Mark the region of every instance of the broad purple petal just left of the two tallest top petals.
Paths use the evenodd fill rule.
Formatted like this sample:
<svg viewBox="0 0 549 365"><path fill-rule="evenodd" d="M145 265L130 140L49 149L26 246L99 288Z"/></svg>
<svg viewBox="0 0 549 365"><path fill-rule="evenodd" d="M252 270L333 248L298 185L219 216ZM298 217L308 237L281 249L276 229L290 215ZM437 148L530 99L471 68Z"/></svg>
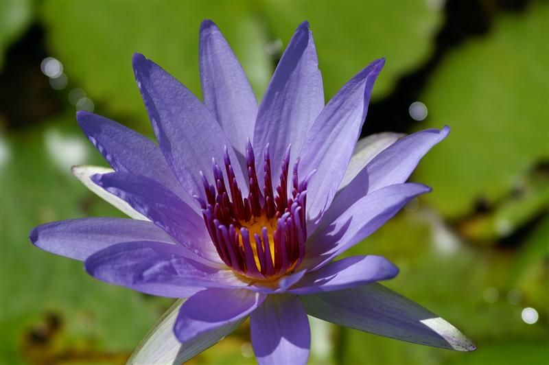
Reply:
<svg viewBox="0 0 549 365"><path fill-rule="evenodd" d="M231 142L204 104L158 64L135 54L133 67L167 163L189 195L203 196L200 171L213 181L211 158L223 161L225 145L232 163L238 165ZM242 195L246 196L248 185L242 169L234 170Z"/></svg>

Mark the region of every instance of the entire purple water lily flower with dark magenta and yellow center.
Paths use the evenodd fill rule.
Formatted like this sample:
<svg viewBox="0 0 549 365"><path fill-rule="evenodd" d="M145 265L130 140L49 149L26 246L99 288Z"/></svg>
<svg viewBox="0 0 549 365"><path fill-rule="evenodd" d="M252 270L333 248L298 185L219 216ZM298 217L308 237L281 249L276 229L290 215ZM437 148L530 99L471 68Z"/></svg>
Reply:
<svg viewBox="0 0 549 365"><path fill-rule="evenodd" d="M187 298L174 305L130 362L185 361L250 318L260 364L303 364L307 314L389 338L474 350L455 327L377 283L398 269L348 257L412 198L406 183L449 128L377 134L355 148L375 60L327 104L307 22L292 36L257 104L218 27L200 27L204 101L141 54L139 91L158 145L121 124L78 112L112 169L77 178L131 219L86 218L34 228L32 243L84 261L97 279Z"/></svg>

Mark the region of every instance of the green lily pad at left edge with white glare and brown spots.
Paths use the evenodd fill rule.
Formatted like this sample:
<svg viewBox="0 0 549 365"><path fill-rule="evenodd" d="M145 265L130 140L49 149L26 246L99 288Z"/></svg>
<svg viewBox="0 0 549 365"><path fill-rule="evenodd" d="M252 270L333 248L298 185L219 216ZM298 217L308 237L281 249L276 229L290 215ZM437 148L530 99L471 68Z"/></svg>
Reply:
<svg viewBox="0 0 549 365"><path fill-rule="evenodd" d="M82 263L30 243L28 233L38 224L120 215L66 168L102 163L73 119L59 117L47 128L2 136L2 364L124 363L166 304L96 281Z"/></svg>

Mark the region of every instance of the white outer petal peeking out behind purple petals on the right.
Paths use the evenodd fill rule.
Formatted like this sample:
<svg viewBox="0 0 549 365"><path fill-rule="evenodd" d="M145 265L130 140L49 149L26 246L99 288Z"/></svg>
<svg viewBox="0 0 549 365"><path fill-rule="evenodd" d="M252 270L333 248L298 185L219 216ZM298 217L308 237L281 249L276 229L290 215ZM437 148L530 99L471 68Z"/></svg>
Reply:
<svg viewBox="0 0 549 365"><path fill-rule="evenodd" d="M357 176L360 170L368 165L379 152L382 152L405 135L403 133L383 132L371 134L366 138L360 139L356 143L353 156L351 157L351 161L349 161L347 170L345 170L339 189L341 190L351 183L351 180Z"/></svg>

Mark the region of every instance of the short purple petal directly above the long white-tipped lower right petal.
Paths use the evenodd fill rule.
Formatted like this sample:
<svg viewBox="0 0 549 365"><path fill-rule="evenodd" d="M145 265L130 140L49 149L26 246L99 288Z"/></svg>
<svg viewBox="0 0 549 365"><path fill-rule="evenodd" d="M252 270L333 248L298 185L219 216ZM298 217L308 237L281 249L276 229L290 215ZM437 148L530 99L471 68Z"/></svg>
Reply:
<svg viewBox="0 0 549 365"><path fill-rule="evenodd" d="M314 272L309 272L289 292L312 294L342 290L347 287L393 279L399 269L381 256L354 256L329 263Z"/></svg>

